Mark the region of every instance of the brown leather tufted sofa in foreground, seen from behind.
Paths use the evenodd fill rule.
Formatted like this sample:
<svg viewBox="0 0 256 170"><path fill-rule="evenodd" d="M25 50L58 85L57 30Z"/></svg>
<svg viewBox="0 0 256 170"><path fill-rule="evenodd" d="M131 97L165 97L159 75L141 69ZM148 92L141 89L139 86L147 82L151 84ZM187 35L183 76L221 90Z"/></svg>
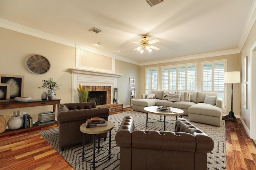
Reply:
<svg viewBox="0 0 256 170"><path fill-rule="evenodd" d="M135 130L124 117L117 133L120 170L206 170L214 148L208 135L186 119L177 119L174 132Z"/></svg>

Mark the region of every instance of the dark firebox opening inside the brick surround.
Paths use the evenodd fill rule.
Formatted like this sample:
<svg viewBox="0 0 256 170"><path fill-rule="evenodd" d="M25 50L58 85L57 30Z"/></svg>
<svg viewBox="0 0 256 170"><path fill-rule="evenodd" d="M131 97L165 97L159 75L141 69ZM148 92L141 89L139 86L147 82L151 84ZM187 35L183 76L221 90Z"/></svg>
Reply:
<svg viewBox="0 0 256 170"><path fill-rule="evenodd" d="M106 104L107 91L90 91L88 102L96 102L96 105Z"/></svg>

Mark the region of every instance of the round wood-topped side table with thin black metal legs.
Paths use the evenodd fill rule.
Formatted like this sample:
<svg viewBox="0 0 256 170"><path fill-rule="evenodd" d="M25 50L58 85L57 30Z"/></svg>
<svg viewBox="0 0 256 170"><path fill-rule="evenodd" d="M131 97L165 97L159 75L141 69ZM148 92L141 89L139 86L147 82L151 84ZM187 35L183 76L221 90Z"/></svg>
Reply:
<svg viewBox="0 0 256 170"><path fill-rule="evenodd" d="M96 135L99 135L98 138L98 153L100 152L100 134L109 132L109 148L108 148L108 159L110 160L110 149L111 149L111 130L114 128L114 123L110 121L106 121L107 126L102 127L86 127L86 123L83 123L80 125L80 131L83 133L83 152L82 152L82 160L84 161L84 134L92 134L93 135L93 162L92 162L92 168L95 170L95 141L96 141ZM100 161L99 161L100 162Z"/></svg>

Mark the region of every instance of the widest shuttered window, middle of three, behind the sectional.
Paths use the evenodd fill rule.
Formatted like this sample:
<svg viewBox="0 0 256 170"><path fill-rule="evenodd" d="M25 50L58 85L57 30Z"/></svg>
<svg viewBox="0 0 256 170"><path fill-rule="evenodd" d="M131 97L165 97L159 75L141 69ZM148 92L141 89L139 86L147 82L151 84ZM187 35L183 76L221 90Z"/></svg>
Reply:
<svg viewBox="0 0 256 170"><path fill-rule="evenodd" d="M196 91L196 64L161 67L162 90Z"/></svg>

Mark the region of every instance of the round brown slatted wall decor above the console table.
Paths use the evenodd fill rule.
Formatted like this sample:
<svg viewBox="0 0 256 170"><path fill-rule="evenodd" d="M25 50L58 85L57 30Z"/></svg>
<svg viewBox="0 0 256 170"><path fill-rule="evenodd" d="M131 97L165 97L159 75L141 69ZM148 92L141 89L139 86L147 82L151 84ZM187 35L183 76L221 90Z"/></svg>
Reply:
<svg viewBox="0 0 256 170"><path fill-rule="evenodd" d="M26 67L35 74L44 74L49 71L51 64L42 55L32 55L26 59Z"/></svg>

